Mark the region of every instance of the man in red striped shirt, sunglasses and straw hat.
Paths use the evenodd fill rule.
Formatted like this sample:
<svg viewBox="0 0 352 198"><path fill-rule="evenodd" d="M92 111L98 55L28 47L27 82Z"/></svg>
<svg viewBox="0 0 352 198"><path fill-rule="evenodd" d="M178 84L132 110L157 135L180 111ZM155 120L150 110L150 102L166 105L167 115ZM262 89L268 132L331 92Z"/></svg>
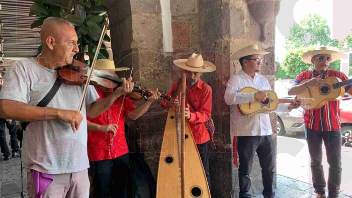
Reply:
<svg viewBox="0 0 352 198"><path fill-rule="evenodd" d="M297 76L293 86L289 89L289 95L297 95L307 87L320 86L324 78L335 76L342 81L348 80L347 76L340 71L328 69L330 62L340 59L341 52L328 50L321 47L318 50L308 51L302 55L305 63L313 64L313 71L303 71ZM309 81L298 84L303 80ZM345 86L345 91L352 94L351 85ZM329 176L327 188L328 197L338 197L341 183L341 123L340 123L340 101L329 101L322 108L304 111L304 123L306 140L311 158L313 187L316 197L325 196L325 178L322 162L322 142L326 149L327 162L329 163Z"/></svg>

